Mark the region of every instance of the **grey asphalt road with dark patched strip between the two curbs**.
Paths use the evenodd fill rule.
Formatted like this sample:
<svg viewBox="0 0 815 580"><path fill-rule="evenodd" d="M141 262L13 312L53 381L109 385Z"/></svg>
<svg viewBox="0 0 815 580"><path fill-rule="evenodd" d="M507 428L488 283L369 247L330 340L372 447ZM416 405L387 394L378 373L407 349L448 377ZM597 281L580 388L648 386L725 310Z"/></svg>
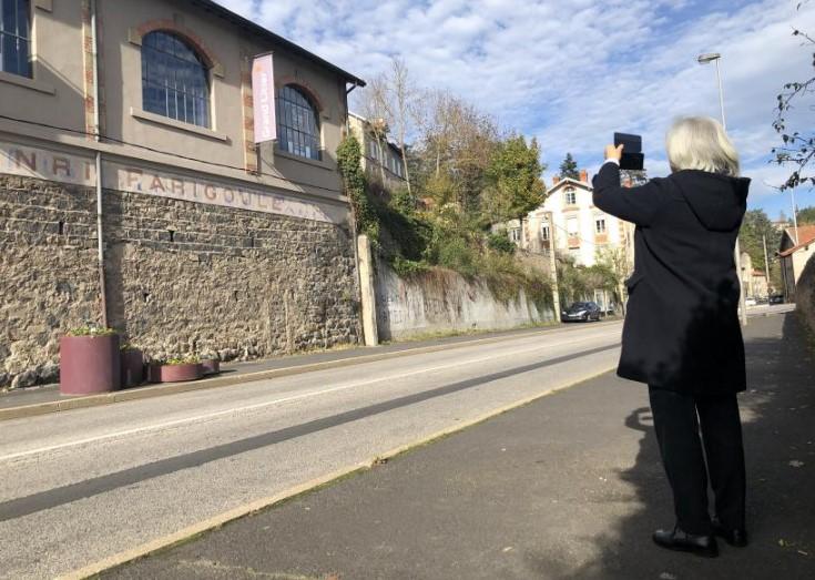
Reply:
<svg viewBox="0 0 815 580"><path fill-rule="evenodd" d="M611 368L620 323L0 424L0 578L49 578Z"/></svg>

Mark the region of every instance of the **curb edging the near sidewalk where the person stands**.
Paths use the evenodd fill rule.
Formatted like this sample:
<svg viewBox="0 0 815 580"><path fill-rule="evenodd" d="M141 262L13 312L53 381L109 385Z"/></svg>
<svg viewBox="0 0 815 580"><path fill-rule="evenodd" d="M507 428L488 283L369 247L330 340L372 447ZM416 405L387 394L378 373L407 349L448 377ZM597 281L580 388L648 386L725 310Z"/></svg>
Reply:
<svg viewBox="0 0 815 580"><path fill-rule="evenodd" d="M343 469L338 469L328 475L320 476L318 478L306 481L305 484L300 484L300 485L291 487L284 491L275 493L274 496L269 496L267 498L252 501L251 503L240 506L224 513L214 516L207 520L203 520L192 526L189 526L186 528L183 528L176 532L170 533L161 538L156 538L146 543L137 546L136 548L132 548L130 550L125 550L125 551L115 553L113 556L99 560L98 562L94 562L92 564L85 566L72 572L68 572L67 574L59 576L57 577L57 580L83 580L86 578L98 576L112 568L118 568L120 566L126 564L140 558L147 557L151 553L156 552L159 550L172 548L173 546L187 541L194 536L198 536L201 533L212 531L214 529L217 529L224 526L225 523L228 523L231 521L235 521L246 516L251 516L252 513L256 513L258 511L272 508L277 503L296 498L297 496L300 496L303 493L314 491L317 488L325 487L327 485L330 485L332 482L335 482L339 479L344 479L354 474L367 471L369 469L373 469L377 465L381 465L397 456L409 452L416 448L432 444L450 435L455 435L457 433L463 431L465 429L475 427L476 425L483 423L488 419L498 417L499 415L503 415L505 413L509 413L513 409L523 407L526 405L529 405L530 403L534 403L536 400L542 399L550 395L554 395L556 393L559 393L561 390L573 388L588 380L605 375L607 373L613 370L614 368L617 368L617 363L614 363L611 366L603 367L602 370L595 370L595 372L589 373L585 376L582 376L575 380L571 380L563 385L547 389L542 393L538 393L536 395L524 397L523 399L498 407L488 413L479 415L472 419L469 419L465 423L450 426L448 428L441 429L431 435L422 437L421 439L417 439L416 441L411 441L411 442L401 445L399 447L396 447L394 449L390 449L384 454L376 455L371 457L370 459L367 459L359 464L356 464L356 465L353 465L353 466L349 466Z"/></svg>

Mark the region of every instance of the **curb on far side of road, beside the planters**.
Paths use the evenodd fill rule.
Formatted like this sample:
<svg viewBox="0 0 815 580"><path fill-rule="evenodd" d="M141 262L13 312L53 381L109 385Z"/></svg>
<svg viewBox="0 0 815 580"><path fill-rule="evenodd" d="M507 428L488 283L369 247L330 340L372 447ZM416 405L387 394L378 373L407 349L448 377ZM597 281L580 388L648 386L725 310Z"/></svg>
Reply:
<svg viewBox="0 0 815 580"><path fill-rule="evenodd" d="M605 323L605 325L617 324ZM234 376L221 376L214 378L204 378L191 383L167 383L153 387L142 387L137 389L115 390L103 395L91 395L88 397L65 398L61 400L52 400L48 403L38 403L34 405L22 405L19 407L9 407L0 409L0 421L10 419L20 419L24 417L34 417L38 415L49 415L51 413L60 413L73 409L83 409L89 407L101 407L103 405L112 405L115 403L125 403L129 400L147 399L153 397L162 397L165 395L175 395L177 393L189 393L192 390L204 390L220 387L231 387L243 383L254 383L257 380L267 380L272 378L287 377L293 375L302 375L316 370L326 370L330 368L340 368L364 363L376 363L391 358L401 358L411 355L421 355L428 353L439 353L451 350L455 348L463 348L473 345L483 345L507 340L508 338L524 338L539 334L551 334L551 327L539 330L530 330L528 333L517 333L505 336L491 336L489 338L476 338L472 340L459 340L432 346L419 346L416 348L406 348L393 353L374 353L370 355L361 355L355 357L339 358L336 360L324 360L322 363L307 363L304 365L294 365L291 367L274 368L269 370L256 370L253 373L237 374ZM554 332L567 332L562 327L556 327Z"/></svg>

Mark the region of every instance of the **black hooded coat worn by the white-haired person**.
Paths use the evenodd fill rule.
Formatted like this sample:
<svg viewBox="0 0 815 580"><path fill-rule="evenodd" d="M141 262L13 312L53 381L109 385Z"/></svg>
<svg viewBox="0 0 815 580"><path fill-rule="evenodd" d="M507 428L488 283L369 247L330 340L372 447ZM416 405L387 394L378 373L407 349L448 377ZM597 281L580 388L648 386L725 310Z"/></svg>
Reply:
<svg viewBox="0 0 815 580"><path fill-rule="evenodd" d="M605 163L594 205L636 224L618 375L692 394L746 388L733 251L750 180L684 170L621 187Z"/></svg>

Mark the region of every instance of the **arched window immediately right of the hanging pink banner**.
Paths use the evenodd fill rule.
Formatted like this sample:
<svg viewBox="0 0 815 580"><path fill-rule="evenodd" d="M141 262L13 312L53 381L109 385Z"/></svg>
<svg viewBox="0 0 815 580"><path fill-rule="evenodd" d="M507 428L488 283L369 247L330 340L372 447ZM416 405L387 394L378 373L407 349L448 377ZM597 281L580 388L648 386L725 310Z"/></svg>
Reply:
<svg viewBox="0 0 815 580"><path fill-rule="evenodd" d="M299 89L291 84L277 94L277 142L281 151L319 159L317 110Z"/></svg>

